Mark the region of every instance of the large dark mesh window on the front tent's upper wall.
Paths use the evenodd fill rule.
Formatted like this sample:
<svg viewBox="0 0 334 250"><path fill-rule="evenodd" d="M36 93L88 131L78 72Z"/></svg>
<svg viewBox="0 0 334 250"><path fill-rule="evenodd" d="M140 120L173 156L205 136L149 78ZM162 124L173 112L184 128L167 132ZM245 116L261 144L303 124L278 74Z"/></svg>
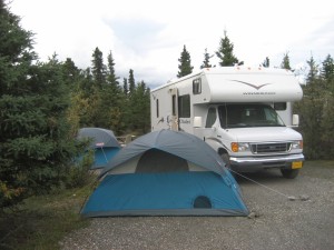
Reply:
<svg viewBox="0 0 334 250"><path fill-rule="evenodd" d="M136 172L184 172L189 171L185 159L171 153L150 149L140 157Z"/></svg>

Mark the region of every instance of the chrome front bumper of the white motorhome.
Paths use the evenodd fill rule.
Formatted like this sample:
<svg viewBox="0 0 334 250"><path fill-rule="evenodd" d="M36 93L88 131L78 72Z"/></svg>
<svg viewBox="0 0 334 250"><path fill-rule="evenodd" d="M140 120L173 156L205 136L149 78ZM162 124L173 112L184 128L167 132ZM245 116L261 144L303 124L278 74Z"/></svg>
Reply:
<svg viewBox="0 0 334 250"><path fill-rule="evenodd" d="M255 172L262 169L291 169L293 162L303 162L304 154L288 154L274 157L230 157L230 168L237 172Z"/></svg>

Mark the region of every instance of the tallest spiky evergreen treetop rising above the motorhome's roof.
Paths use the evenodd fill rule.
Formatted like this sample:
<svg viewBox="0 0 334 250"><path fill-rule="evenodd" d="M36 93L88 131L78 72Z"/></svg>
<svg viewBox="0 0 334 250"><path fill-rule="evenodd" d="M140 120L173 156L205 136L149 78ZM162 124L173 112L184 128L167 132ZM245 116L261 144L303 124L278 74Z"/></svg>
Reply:
<svg viewBox="0 0 334 250"><path fill-rule="evenodd" d="M220 66L234 66L234 64L243 64L244 62L239 62L238 59L234 56L234 44L229 41L229 38L226 34L226 30L224 31L224 38L220 39L220 46L218 51L216 51L216 56L220 59Z"/></svg>

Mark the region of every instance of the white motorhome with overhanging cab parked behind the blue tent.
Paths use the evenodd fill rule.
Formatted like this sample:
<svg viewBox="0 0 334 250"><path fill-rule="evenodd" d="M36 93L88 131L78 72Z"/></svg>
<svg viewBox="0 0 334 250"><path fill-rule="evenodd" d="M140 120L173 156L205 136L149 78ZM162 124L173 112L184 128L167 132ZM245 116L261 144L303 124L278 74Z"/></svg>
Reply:
<svg viewBox="0 0 334 250"><path fill-rule="evenodd" d="M303 167L303 138L292 129L292 103L303 97L284 69L207 68L151 90L151 130L195 134L236 172L279 168L295 178Z"/></svg>

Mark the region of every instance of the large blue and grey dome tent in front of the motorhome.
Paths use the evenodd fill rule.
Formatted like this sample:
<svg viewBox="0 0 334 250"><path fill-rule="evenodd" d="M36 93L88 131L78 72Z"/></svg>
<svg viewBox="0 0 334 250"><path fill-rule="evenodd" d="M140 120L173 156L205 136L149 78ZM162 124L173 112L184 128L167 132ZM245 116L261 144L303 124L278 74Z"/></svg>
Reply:
<svg viewBox="0 0 334 250"><path fill-rule="evenodd" d="M141 136L101 171L84 217L246 216L220 157L197 137L171 130Z"/></svg>

